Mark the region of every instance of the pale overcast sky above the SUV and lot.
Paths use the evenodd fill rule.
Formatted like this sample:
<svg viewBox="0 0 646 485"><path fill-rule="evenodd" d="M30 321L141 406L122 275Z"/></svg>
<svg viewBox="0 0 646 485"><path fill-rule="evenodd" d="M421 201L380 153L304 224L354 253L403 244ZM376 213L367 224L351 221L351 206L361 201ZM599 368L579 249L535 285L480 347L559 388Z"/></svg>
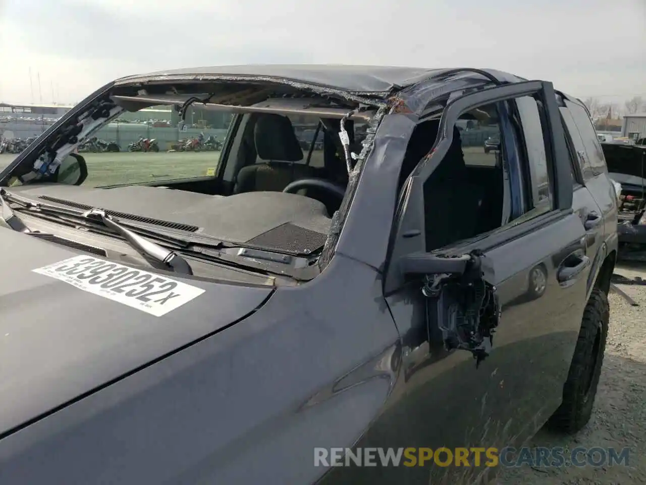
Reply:
<svg viewBox="0 0 646 485"><path fill-rule="evenodd" d="M646 0L0 0L0 47L0 102L241 63L492 67L646 98Z"/></svg>

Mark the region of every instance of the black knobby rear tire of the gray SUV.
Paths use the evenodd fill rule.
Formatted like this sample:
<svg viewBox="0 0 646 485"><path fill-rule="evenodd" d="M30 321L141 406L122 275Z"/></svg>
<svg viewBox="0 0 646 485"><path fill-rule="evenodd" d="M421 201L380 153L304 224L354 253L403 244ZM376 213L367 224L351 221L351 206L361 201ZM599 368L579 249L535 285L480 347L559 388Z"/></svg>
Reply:
<svg viewBox="0 0 646 485"><path fill-rule="evenodd" d="M576 433L589 422L603 365L609 316L608 297L600 288L594 288L583 310L579 338L563 386L563 402L547 422L550 429Z"/></svg>

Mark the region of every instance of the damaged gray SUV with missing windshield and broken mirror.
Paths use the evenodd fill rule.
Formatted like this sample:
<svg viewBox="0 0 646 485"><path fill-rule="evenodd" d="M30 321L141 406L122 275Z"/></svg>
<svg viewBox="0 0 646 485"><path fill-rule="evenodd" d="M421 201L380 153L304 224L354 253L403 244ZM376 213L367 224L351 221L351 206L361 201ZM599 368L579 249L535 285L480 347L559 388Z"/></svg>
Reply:
<svg viewBox="0 0 646 485"><path fill-rule="evenodd" d="M231 120L207 175L123 169L190 154L78 153L155 106ZM0 483L477 483L494 468L356 458L590 418L617 197L589 113L547 81L130 76L17 156L0 195Z"/></svg>

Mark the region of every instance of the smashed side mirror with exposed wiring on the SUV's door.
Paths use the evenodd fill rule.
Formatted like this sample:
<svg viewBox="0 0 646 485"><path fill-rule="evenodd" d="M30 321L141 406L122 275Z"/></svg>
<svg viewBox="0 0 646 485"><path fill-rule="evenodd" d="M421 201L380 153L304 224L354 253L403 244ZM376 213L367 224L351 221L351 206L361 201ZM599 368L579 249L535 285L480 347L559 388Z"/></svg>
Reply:
<svg viewBox="0 0 646 485"><path fill-rule="evenodd" d="M429 338L442 334L447 350L468 350L476 367L490 353L501 308L495 286L485 281L479 251L456 257L411 254L401 260L407 277L422 277Z"/></svg>

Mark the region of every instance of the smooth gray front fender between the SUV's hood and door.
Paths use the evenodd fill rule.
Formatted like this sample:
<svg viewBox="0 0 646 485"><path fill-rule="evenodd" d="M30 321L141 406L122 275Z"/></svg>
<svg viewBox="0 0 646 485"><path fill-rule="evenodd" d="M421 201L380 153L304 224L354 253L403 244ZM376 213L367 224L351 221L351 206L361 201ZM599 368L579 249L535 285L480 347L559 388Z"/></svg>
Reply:
<svg viewBox="0 0 646 485"><path fill-rule="evenodd" d="M353 446L399 375L381 288L335 255L242 321L0 439L0 483L316 482L329 468L315 448Z"/></svg>

